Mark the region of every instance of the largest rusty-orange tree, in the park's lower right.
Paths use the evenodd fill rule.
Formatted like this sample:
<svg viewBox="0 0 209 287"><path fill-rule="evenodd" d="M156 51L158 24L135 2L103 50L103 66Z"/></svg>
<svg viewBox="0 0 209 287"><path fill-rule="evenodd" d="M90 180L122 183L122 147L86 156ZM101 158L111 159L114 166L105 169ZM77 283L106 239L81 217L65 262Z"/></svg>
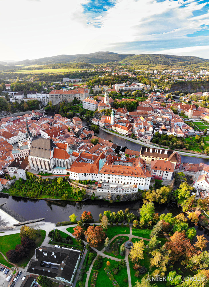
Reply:
<svg viewBox="0 0 209 287"><path fill-rule="evenodd" d="M168 251L171 250L169 254L171 263L179 260L181 256L185 258L192 257L197 252L191 245L190 240L185 238L185 233L183 232L175 232L164 246Z"/></svg>

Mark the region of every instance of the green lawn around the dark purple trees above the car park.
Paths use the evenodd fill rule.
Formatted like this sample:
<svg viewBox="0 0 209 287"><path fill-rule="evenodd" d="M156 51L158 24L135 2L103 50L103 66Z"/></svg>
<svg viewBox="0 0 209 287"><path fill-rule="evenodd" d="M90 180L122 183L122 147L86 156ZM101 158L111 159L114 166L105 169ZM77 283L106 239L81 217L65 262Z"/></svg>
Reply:
<svg viewBox="0 0 209 287"><path fill-rule="evenodd" d="M44 241L44 238L46 237L46 231L38 230L38 232L39 234L35 242L35 247L30 250L30 252L28 253L28 257L22 258L22 260L17 263L18 266L25 268L31 257L34 255L35 249L41 246L42 242ZM19 233L1 236L0 251L6 256L7 251L9 251L10 249L15 249L15 246L20 243L21 237L19 236Z"/></svg>

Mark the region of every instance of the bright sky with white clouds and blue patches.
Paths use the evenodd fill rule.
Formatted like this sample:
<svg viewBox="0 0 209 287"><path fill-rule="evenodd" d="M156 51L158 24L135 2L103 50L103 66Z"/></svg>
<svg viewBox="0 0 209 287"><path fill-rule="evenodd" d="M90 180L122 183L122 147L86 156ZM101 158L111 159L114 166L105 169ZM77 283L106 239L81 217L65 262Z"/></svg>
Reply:
<svg viewBox="0 0 209 287"><path fill-rule="evenodd" d="M111 51L209 59L209 0L0 0L0 61Z"/></svg>

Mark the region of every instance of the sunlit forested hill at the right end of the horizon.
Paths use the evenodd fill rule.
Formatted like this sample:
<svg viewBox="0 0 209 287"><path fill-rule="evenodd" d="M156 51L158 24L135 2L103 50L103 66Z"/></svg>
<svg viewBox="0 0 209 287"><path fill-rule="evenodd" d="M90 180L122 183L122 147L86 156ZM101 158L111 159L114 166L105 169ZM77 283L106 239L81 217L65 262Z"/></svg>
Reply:
<svg viewBox="0 0 209 287"><path fill-rule="evenodd" d="M208 59L202 59L199 57L193 56L175 56L175 55L163 55L163 54L143 54L143 55L132 55L128 56L122 60L122 63L130 63L135 66L147 66L154 67L159 65L165 66L191 66L200 63L205 63L206 65L209 63ZM204 64L202 64L204 66ZM202 66L197 65L197 66Z"/></svg>

